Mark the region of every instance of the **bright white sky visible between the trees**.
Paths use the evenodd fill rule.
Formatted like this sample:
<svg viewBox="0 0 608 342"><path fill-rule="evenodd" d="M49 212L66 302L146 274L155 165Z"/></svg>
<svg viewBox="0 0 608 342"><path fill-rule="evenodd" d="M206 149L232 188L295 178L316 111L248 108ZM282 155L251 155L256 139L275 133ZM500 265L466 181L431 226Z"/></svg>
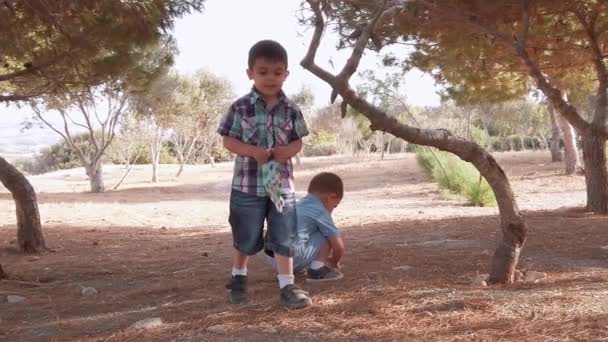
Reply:
<svg viewBox="0 0 608 342"><path fill-rule="evenodd" d="M227 78L234 84L236 94L243 95L251 88L245 74L249 48L258 40L273 39L289 54L291 74L285 83L285 92L295 93L306 85L315 94L316 106L327 104L329 86L299 65L312 34L312 30L298 23L299 4L300 0L208 0L203 13L176 22L174 35L180 50L176 68L182 72L206 68ZM335 43L335 36L327 32L317 54L317 63L330 71L333 71L330 59L336 68L341 68L349 53L336 51ZM368 53L359 70L376 69L378 62L376 54ZM355 78L353 83L356 82ZM412 105L439 104L433 80L420 72L406 76L404 90ZM0 153L16 152L19 146L59 141L59 135L48 128L20 132L21 123L29 117L31 113L27 109L0 107Z"/></svg>

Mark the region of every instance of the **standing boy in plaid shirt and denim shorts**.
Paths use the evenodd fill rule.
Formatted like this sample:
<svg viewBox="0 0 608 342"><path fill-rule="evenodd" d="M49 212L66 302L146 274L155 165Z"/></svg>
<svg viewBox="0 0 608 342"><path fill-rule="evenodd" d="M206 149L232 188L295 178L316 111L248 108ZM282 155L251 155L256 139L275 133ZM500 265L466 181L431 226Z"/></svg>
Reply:
<svg viewBox="0 0 608 342"><path fill-rule="evenodd" d="M264 247L266 221L266 246L276 255L281 304L288 308L312 305L293 276L296 213L291 158L302 149L308 130L302 112L282 91L288 75L287 52L279 43L263 40L253 45L247 69L253 89L230 106L218 128L224 147L237 155L229 218L235 255L227 285L233 304L248 300L247 262ZM264 164L270 160L277 163L273 170L280 176L280 201L271 197L264 184L268 178Z"/></svg>

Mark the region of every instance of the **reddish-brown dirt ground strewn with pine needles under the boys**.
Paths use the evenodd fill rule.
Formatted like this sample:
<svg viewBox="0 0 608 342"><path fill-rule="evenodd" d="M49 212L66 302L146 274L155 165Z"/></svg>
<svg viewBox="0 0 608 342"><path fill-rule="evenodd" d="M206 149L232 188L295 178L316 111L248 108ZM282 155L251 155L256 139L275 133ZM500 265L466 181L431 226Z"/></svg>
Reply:
<svg viewBox="0 0 608 342"><path fill-rule="evenodd" d="M179 180L162 166L157 184L142 166L104 194L86 193L82 169L31 177L53 251L15 252L3 190L0 341L607 341L608 222L579 209L584 179L564 176L548 152L497 158L530 229L520 269L546 278L471 285L488 272L497 209L444 196L413 155L308 159L299 190L319 171L345 180L334 217L348 255L340 282L297 279L315 303L300 311L278 305L261 256L249 267L250 304L226 302L230 164L191 166ZM108 188L122 172L106 167ZM1 302L7 295L26 299ZM153 317L163 324L129 329Z"/></svg>

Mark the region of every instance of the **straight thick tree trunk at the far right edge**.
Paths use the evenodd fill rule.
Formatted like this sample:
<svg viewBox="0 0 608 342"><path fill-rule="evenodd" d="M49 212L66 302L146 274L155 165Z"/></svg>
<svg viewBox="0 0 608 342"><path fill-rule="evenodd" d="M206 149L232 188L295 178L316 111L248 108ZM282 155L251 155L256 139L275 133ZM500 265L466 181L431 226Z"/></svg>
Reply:
<svg viewBox="0 0 608 342"><path fill-rule="evenodd" d="M608 214L608 170L606 169L606 141L592 130L583 136L587 210Z"/></svg>

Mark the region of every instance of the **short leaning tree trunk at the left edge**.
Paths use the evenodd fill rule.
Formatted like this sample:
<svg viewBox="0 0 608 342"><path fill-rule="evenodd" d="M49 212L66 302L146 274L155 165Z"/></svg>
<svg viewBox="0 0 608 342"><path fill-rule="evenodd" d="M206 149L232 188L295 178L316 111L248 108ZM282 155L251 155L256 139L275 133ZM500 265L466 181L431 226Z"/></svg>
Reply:
<svg viewBox="0 0 608 342"><path fill-rule="evenodd" d="M37 253L45 249L36 192L27 178L2 157L0 157L0 182L11 192L15 200L19 250Z"/></svg>

